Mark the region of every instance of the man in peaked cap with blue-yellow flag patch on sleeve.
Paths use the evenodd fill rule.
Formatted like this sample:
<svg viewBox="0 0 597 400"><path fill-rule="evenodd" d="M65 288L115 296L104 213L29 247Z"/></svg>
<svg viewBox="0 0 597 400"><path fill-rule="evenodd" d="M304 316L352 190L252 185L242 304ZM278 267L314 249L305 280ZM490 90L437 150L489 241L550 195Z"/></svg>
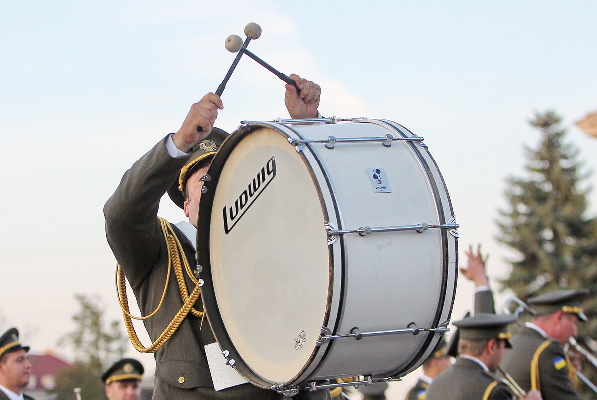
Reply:
<svg viewBox="0 0 597 400"><path fill-rule="evenodd" d="M586 321L581 300L587 290L558 290L527 299L536 315L512 339L514 348L504 355L503 366L528 390L541 390L545 400L580 399L574 389L576 371L563 346Z"/></svg>

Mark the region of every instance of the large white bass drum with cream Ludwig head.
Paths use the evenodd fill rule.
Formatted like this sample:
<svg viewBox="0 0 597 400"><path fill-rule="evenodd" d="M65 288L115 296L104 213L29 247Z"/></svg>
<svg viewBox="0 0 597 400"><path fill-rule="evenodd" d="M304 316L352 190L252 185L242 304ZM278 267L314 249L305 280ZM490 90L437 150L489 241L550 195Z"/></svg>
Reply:
<svg viewBox="0 0 597 400"><path fill-rule="evenodd" d="M197 255L211 327L248 381L399 377L431 354L454 300L458 225L421 139L372 119L254 122L226 139Z"/></svg>

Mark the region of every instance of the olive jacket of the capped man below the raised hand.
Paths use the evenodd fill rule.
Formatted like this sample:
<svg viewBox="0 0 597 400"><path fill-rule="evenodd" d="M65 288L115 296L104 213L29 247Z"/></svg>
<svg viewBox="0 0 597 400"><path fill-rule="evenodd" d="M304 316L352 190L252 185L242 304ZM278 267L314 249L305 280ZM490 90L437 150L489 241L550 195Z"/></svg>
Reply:
<svg viewBox="0 0 597 400"><path fill-rule="evenodd" d="M488 392L488 400L513 398L509 387L497 382L481 365L471 359L458 357L452 367L433 379L425 400L482 400L490 385L493 388Z"/></svg>

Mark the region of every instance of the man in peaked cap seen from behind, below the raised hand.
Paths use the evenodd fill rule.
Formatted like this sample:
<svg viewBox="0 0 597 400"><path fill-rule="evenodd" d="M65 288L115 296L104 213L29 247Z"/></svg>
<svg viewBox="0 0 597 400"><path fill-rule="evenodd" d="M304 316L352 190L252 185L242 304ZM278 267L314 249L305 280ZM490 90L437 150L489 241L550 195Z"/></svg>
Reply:
<svg viewBox="0 0 597 400"><path fill-rule="evenodd" d="M454 323L460 329L460 356L452 367L436 377L426 400L507 400L513 393L506 383L494 377L506 347L510 347L507 327L513 315L479 313ZM537 390L524 399L537 400Z"/></svg>

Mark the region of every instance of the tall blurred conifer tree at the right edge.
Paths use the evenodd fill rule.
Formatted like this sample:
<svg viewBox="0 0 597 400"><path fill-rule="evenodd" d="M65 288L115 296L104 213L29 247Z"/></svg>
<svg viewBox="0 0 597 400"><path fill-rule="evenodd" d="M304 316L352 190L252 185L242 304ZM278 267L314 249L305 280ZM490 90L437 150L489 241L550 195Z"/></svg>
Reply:
<svg viewBox="0 0 597 400"><path fill-rule="evenodd" d="M500 210L498 221L498 240L519 256L510 261L512 273L502 283L522 300L550 290L588 289L583 306L589 322L578 327L581 336L595 339L597 218L586 215L589 189L582 183L587 175L580 172L578 150L564 141L555 113L537 113L530 123L540 130L541 142L537 150L527 147L528 176L509 179L509 210Z"/></svg>

